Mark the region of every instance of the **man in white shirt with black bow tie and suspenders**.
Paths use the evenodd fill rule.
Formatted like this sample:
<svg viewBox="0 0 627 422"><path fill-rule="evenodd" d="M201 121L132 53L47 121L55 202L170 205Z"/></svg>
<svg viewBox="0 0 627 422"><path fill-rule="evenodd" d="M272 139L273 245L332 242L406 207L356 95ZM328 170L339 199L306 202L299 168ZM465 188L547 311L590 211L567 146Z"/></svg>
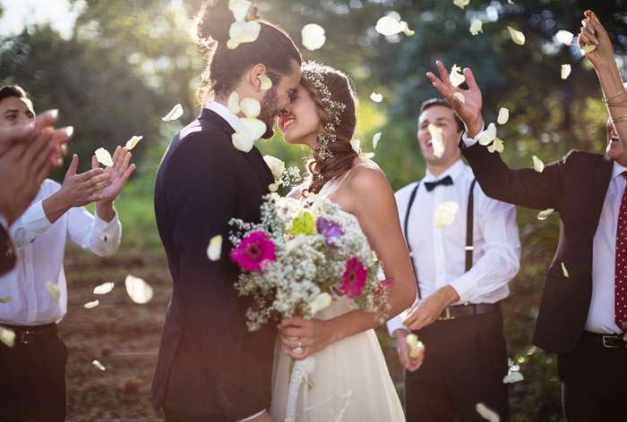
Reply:
<svg viewBox="0 0 627 422"><path fill-rule="evenodd" d="M442 131L441 157L434 155L432 124ZM478 402L497 411L501 420L509 420L499 302L509 296L508 283L520 268L516 210L488 198L474 182L472 171L461 161L462 132L463 124L446 101L425 101L417 138L426 175L396 194L418 298L404 318L388 322L388 329L397 339L401 364L408 369L410 422L476 420ZM446 202L459 210L451 224L439 228L438 208ZM405 339L410 331L425 343L424 362L422 357L409 357Z"/></svg>

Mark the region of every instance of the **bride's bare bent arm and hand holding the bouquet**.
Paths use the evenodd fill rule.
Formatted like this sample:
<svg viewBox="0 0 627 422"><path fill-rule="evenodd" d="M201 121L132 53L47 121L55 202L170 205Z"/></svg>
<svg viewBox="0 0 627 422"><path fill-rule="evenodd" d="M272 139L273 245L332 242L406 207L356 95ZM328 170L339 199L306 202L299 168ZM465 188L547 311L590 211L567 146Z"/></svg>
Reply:
<svg viewBox="0 0 627 422"><path fill-rule="evenodd" d="M388 316L398 315L416 298L415 277L409 253L400 231L394 193L382 172L358 168L336 195L345 210L356 215L359 225L383 264L385 277L393 279ZM305 359L334 342L381 325L370 312L350 311L329 320L301 317L281 321L281 340L293 359ZM303 352L294 353L300 346Z"/></svg>

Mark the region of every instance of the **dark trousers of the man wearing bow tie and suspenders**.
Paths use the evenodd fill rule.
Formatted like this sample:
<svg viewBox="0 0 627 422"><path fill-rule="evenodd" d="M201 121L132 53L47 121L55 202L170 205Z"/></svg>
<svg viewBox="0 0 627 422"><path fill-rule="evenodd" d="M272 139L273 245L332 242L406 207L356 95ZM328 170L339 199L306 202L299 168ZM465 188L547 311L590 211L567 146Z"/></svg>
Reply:
<svg viewBox="0 0 627 422"><path fill-rule="evenodd" d="M417 332L425 343L425 361L406 372L408 422L485 422L477 413L484 403L510 420L507 346L498 310L437 321Z"/></svg>

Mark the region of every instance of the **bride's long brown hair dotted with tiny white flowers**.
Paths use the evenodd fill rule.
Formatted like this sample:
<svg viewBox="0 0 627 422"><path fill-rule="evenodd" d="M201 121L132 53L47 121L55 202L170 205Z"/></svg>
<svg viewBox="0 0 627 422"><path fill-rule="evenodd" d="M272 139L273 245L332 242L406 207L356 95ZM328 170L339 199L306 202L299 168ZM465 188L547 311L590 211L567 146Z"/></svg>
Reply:
<svg viewBox="0 0 627 422"><path fill-rule="evenodd" d="M314 99L322 121L318 145L306 167L307 188L318 193L327 181L348 172L357 153L350 145L356 128L356 92L344 72L320 63L304 63L301 84Z"/></svg>

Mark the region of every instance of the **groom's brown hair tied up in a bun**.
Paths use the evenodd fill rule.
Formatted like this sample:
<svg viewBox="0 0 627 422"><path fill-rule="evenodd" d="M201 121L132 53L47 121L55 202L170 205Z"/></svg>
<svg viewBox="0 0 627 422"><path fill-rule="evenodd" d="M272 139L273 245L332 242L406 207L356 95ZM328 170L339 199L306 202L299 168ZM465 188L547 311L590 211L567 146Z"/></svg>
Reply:
<svg viewBox="0 0 627 422"><path fill-rule="evenodd" d="M253 9L251 9L253 10ZM249 18L247 18L249 19ZM205 54L202 87L197 97L205 105L214 95L227 96L242 75L253 65L262 63L268 70L273 86L279 78L300 66L303 58L286 31L258 16L251 19L261 25L259 36L253 42L228 48L229 30L235 21L228 9L228 0L207 0L194 20L195 42Z"/></svg>

